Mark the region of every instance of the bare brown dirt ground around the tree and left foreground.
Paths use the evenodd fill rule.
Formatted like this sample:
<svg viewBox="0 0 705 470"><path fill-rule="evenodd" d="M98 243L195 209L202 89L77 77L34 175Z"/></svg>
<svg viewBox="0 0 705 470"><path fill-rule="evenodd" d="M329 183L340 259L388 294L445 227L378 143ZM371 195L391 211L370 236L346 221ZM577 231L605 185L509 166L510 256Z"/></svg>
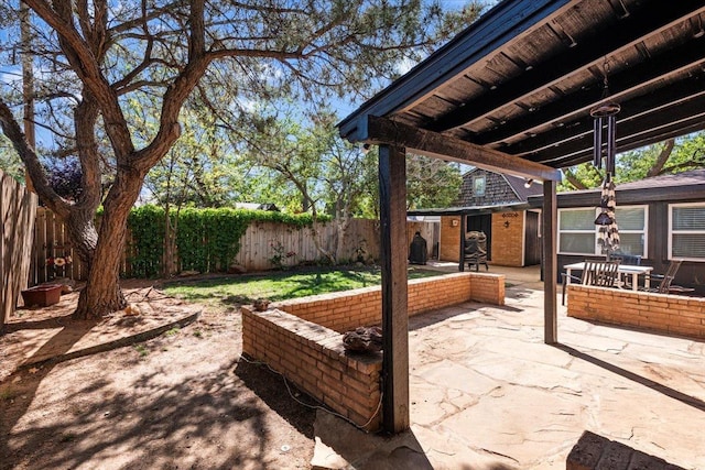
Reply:
<svg viewBox="0 0 705 470"><path fill-rule="evenodd" d="M127 287L158 294L149 300L156 314L174 300ZM72 295L43 314L80 338L96 325L68 319ZM22 325L30 328L14 330ZM315 411L281 376L240 358L240 332L239 309L204 310L151 340L0 375L0 469L310 468Z"/></svg>

